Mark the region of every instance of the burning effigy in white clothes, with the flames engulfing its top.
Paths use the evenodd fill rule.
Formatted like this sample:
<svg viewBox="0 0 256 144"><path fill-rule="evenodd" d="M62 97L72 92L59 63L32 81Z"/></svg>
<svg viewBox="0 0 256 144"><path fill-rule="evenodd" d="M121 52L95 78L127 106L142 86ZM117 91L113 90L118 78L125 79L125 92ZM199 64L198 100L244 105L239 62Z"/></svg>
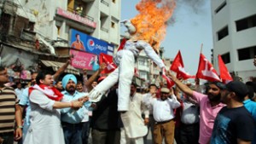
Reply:
<svg viewBox="0 0 256 144"><path fill-rule="evenodd" d="M172 16L175 2L171 0L142 0L137 4L137 14L131 20L124 20L123 23L128 29L131 38L125 42L123 49L120 49L113 57L113 61L118 66L100 84L97 84L90 91L90 101L100 101L108 89L119 83L118 89L118 111L124 124L126 135L129 138L141 137L148 132L143 124L141 114L130 112L131 81L134 76L134 68L137 56L141 50L160 66L164 71L166 68L163 60L156 52L159 52L160 42L166 36L167 20ZM136 119L136 120L135 120ZM137 123L133 123L133 122ZM138 134L133 130L140 130Z"/></svg>

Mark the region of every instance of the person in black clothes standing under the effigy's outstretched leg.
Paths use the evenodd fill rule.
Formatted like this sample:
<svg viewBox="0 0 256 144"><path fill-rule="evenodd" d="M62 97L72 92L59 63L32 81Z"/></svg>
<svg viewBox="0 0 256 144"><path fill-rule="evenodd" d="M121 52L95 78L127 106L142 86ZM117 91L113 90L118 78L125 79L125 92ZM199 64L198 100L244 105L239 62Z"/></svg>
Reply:
<svg viewBox="0 0 256 144"><path fill-rule="evenodd" d="M98 78L98 83L103 79ZM117 110L117 101L117 91L113 87L102 95L101 101L95 103L96 109L91 117L92 143L120 143L120 114Z"/></svg>

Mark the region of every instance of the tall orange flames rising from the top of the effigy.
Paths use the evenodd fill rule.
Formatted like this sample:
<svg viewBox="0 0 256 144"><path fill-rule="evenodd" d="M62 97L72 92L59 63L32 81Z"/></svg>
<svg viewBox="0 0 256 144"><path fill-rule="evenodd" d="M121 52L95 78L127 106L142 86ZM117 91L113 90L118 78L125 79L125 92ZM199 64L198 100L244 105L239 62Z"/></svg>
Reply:
<svg viewBox="0 0 256 144"><path fill-rule="evenodd" d="M175 0L142 0L137 3L139 14L131 19L137 32L131 35L131 39L145 40L159 52L160 42L166 37L167 20L175 6Z"/></svg>

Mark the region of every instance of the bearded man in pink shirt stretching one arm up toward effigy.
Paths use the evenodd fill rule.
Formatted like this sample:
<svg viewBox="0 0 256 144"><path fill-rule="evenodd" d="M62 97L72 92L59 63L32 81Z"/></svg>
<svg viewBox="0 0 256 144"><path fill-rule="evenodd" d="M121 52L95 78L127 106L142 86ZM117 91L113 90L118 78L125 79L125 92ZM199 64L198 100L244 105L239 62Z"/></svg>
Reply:
<svg viewBox="0 0 256 144"><path fill-rule="evenodd" d="M210 141L212 135L212 129L214 120L224 104L220 102L220 88L218 87L220 82L212 82L207 87L207 95L196 92L186 84L179 81L171 72L167 72L167 75L177 85L177 87L185 93L187 96L193 98L200 107L200 135L199 143L207 144Z"/></svg>

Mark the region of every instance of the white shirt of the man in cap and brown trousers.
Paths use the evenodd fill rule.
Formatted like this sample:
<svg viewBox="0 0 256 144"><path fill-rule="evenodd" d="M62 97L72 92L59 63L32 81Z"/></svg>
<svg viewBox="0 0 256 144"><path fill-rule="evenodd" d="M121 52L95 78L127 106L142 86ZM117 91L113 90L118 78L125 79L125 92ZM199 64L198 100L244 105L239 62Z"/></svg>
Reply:
<svg viewBox="0 0 256 144"><path fill-rule="evenodd" d="M173 119L173 109L180 107L180 103L177 101L175 95L172 95L172 99L167 98L166 101L161 99L151 98L150 103L153 106L153 117L156 122L164 122Z"/></svg>

